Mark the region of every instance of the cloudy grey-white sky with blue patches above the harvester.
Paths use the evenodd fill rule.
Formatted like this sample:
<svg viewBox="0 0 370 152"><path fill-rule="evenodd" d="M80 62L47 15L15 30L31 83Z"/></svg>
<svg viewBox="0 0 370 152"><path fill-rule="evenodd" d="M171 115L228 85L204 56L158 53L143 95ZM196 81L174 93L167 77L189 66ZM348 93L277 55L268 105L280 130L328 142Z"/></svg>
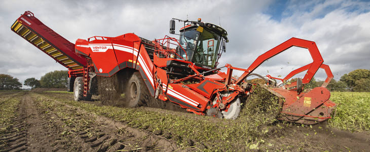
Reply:
<svg viewBox="0 0 370 152"><path fill-rule="evenodd" d="M0 73L24 82L66 68L11 31L29 10L72 43L94 35L134 32L149 40L170 35L171 18L221 24L230 42L220 65L247 68L259 55L298 37L316 42L339 80L354 69L369 69L370 2L366 1L2 1L0 2ZM177 22L176 22L177 23ZM176 28L180 24L177 23ZM176 35L172 35L177 37ZM254 72L285 76L312 59L306 49L291 48ZM298 75L302 77L301 75ZM325 79L324 70L315 78Z"/></svg>

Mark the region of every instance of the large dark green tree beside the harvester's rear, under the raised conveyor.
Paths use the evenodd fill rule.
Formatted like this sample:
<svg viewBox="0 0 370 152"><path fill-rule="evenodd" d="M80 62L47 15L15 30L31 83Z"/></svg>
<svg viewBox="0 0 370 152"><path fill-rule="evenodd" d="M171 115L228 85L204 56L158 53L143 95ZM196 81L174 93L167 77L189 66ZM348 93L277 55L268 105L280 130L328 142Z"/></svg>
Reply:
<svg viewBox="0 0 370 152"><path fill-rule="evenodd" d="M43 88L66 88L68 84L67 80L67 70L55 70L41 77L40 84Z"/></svg>

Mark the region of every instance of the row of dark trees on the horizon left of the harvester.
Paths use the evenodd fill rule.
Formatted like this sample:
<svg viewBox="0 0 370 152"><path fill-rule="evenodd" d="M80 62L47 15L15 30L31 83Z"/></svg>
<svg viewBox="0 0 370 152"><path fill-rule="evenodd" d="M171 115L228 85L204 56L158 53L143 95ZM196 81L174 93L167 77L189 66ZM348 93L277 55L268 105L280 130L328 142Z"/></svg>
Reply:
<svg viewBox="0 0 370 152"><path fill-rule="evenodd" d="M34 88L66 88L68 83L67 70L55 70L46 73L40 80L35 78L27 78L23 85ZM18 78L14 78L9 74L0 74L0 90L20 90L22 83Z"/></svg>

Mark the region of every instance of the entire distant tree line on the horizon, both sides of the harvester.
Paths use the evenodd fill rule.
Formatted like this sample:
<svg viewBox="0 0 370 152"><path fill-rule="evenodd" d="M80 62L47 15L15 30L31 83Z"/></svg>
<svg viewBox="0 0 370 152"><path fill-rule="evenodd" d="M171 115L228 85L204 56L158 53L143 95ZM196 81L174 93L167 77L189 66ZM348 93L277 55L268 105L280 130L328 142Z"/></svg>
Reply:
<svg viewBox="0 0 370 152"><path fill-rule="evenodd" d="M28 78L23 85L34 88L66 88L68 80L67 70L55 70L46 73L40 80ZM294 79L290 80L294 81ZM316 81L315 78L305 85L305 88L312 89L321 86L323 81ZM0 90L20 90L22 83L9 74L0 74ZM326 87L330 91L354 91L370 92L370 70L356 69L344 74L340 81L332 79Z"/></svg>

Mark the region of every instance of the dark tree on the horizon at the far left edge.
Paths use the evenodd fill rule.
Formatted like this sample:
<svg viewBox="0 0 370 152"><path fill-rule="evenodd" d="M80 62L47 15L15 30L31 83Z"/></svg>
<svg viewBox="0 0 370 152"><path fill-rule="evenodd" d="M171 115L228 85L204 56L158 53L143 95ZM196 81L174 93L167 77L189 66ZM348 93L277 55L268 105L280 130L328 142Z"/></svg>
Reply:
<svg viewBox="0 0 370 152"><path fill-rule="evenodd" d="M20 90L22 83L9 74L0 74L0 90Z"/></svg>

